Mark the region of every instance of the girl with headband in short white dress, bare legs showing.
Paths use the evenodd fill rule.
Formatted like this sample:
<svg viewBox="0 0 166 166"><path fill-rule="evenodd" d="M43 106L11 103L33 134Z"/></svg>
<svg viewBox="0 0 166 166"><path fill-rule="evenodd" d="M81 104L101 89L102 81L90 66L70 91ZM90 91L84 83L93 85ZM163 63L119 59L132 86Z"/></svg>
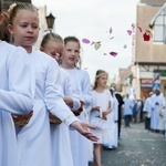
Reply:
<svg viewBox="0 0 166 166"><path fill-rule="evenodd" d="M93 94L93 108L91 111L91 120L101 117L107 123L107 116L111 113L111 95L110 91L106 89L107 73L103 70L96 71L95 83L92 91ZM94 166L101 166L101 153L102 144L108 144L110 141L110 129L108 123L107 128L96 128L92 131L94 135L98 137L98 142L94 143Z"/></svg>

